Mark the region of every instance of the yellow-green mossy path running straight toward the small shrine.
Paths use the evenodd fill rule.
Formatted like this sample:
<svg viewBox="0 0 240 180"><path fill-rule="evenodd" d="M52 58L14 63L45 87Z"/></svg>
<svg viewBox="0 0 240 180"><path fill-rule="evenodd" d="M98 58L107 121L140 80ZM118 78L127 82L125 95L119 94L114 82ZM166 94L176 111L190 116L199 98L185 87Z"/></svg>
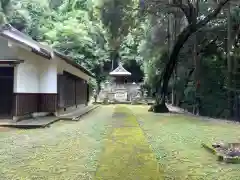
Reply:
<svg viewBox="0 0 240 180"><path fill-rule="evenodd" d="M155 154L130 110L117 106L111 125L95 179L162 179Z"/></svg>

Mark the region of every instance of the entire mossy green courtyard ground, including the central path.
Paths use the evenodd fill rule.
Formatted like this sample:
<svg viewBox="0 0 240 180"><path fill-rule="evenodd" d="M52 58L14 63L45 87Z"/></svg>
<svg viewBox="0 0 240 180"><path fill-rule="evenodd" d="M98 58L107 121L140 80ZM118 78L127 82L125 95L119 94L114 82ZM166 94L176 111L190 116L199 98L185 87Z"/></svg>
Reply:
<svg viewBox="0 0 240 180"><path fill-rule="evenodd" d="M240 165L217 162L201 143L240 142L240 125L128 105L137 121L114 107L46 129L1 129L0 179L154 179L157 162L166 180L239 179Z"/></svg>

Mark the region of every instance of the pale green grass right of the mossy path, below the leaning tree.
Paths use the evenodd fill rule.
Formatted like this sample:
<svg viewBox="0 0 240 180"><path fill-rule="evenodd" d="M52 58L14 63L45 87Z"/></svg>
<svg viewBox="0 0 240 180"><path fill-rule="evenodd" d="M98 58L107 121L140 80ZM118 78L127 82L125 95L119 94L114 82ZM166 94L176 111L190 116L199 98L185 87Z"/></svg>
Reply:
<svg viewBox="0 0 240 180"><path fill-rule="evenodd" d="M201 146L202 143L238 141L238 124L184 115L154 114L143 106L132 106L131 110L139 117L139 123L164 170L164 179L239 179L239 164L216 161L216 156Z"/></svg>

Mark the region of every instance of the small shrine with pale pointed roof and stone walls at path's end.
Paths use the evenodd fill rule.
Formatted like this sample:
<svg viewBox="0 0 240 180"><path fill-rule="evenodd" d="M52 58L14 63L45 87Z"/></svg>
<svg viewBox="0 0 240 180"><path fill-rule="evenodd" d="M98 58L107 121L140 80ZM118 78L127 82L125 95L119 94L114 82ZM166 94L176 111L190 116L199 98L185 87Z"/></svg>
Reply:
<svg viewBox="0 0 240 180"><path fill-rule="evenodd" d="M128 72L121 63L118 67L109 73L112 77L110 82L105 82L102 85L102 90L99 94L99 101L112 103L131 103L141 101L143 98L140 91L140 85L129 81L131 73Z"/></svg>

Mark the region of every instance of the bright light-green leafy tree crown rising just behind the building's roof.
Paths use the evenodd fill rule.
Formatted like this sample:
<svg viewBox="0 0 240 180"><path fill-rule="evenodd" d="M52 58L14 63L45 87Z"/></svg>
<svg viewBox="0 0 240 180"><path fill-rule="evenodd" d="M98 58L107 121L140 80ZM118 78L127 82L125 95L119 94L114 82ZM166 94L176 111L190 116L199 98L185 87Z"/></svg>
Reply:
<svg viewBox="0 0 240 180"><path fill-rule="evenodd" d="M88 12L83 10L75 9L61 18L61 21L52 21L50 27L45 27L46 39L54 48L73 57L101 79L102 71L99 68L109 60L102 25L91 21Z"/></svg>

